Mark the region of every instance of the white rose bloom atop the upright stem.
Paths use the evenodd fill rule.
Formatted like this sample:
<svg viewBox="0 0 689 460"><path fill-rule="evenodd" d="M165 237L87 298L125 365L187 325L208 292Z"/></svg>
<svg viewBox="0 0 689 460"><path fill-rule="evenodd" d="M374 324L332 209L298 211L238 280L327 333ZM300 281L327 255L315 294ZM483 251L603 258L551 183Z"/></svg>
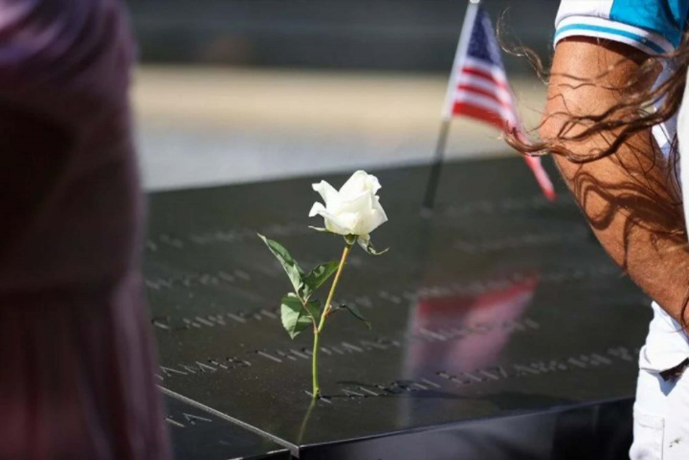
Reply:
<svg viewBox="0 0 689 460"><path fill-rule="evenodd" d="M326 181L314 183L313 190L320 193L325 206L313 203L309 217L322 216L326 230L345 236L356 235L362 246L369 243L369 233L387 221L376 196L380 183L376 176L365 171L352 174L339 191Z"/></svg>

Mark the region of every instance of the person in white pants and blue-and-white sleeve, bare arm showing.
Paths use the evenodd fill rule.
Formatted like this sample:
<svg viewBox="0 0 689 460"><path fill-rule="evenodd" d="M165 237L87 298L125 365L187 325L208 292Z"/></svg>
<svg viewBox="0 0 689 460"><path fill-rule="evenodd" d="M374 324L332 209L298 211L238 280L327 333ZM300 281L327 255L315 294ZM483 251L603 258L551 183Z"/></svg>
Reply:
<svg viewBox="0 0 689 460"><path fill-rule="evenodd" d="M634 460L689 459L688 7L562 0L541 141L508 137L522 152L555 154L601 244L654 299Z"/></svg>

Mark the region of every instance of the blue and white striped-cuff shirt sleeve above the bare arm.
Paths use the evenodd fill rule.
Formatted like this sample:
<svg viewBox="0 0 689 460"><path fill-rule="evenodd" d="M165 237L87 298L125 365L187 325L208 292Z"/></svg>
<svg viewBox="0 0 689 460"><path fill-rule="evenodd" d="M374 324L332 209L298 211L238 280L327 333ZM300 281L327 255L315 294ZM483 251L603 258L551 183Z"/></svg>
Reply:
<svg viewBox="0 0 689 460"><path fill-rule="evenodd" d="M555 44L566 37L595 37L648 54L672 52L687 23L689 0L561 0Z"/></svg>

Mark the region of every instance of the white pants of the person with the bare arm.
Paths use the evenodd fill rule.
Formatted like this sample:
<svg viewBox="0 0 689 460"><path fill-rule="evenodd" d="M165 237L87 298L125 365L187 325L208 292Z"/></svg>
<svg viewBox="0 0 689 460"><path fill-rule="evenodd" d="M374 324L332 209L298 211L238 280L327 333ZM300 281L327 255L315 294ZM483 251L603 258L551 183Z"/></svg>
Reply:
<svg viewBox="0 0 689 460"><path fill-rule="evenodd" d="M631 460L689 459L689 369L664 381L659 372L689 357L689 343L677 321L653 305L646 345L639 354L634 442Z"/></svg>

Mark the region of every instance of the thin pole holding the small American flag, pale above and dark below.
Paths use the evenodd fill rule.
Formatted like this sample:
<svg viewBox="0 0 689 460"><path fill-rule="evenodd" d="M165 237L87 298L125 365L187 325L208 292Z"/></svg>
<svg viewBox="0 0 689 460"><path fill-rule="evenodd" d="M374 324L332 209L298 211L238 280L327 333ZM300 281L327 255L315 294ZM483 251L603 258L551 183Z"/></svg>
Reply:
<svg viewBox="0 0 689 460"><path fill-rule="evenodd" d="M467 48L469 48L471 30L473 29L473 22L476 19L479 3L481 3L481 0L469 0L469 6L466 7L466 14L464 14L462 32L460 33L459 41L457 41L455 60L453 61L450 79L447 82L447 89L445 91L445 101L442 106L440 121L440 132L438 132L438 141L435 143L433 164L431 165L429 179L426 183L426 194L424 195L424 201L422 203L422 214L428 214L431 212L431 210L433 210L433 205L435 204L435 194L438 191L440 172L442 171L442 163L447 147L447 137L450 132L450 121L452 120L452 101L453 94L455 92L455 85L457 83L457 72L459 72L464 64L464 57L466 56Z"/></svg>

